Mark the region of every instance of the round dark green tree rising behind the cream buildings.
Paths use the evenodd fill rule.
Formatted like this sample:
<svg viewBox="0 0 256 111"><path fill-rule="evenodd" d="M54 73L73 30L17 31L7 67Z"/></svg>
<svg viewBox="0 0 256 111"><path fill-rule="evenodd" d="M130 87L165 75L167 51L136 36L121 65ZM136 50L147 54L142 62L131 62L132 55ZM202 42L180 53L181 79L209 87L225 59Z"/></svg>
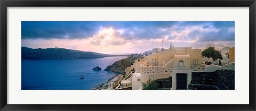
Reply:
<svg viewBox="0 0 256 111"><path fill-rule="evenodd" d="M202 56L207 58L212 58L213 61L216 61L217 59L223 59L220 51L214 50L213 47L206 48L202 52Z"/></svg>

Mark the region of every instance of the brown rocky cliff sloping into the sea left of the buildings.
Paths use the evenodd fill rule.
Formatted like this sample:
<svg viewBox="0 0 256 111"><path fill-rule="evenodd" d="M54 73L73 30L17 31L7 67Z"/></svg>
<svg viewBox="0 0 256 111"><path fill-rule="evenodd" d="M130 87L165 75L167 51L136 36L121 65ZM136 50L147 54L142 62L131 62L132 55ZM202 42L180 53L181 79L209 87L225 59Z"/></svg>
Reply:
<svg viewBox="0 0 256 111"><path fill-rule="evenodd" d="M150 52L151 51L147 51L147 52L141 53L141 54L129 55L127 58L121 59L121 60L115 62L114 64L109 65L105 69L105 71L123 73L127 67L131 66L131 64L134 63L135 59L144 58L144 56L148 55Z"/></svg>

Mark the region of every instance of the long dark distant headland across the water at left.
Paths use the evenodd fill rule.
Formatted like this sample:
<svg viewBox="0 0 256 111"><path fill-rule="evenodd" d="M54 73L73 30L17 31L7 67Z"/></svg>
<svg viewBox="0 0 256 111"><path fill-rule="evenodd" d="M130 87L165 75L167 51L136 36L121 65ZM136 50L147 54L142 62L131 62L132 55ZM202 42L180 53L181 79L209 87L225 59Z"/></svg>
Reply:
<svg viewBox="0 0 256 111"><path fill-rule="evenodd" d="M33 49L28 47L21 47L21 59L89 59L110 56L120 55L107 55L94 52L82 52L79 50L71 50L65 48Z"/></svg>

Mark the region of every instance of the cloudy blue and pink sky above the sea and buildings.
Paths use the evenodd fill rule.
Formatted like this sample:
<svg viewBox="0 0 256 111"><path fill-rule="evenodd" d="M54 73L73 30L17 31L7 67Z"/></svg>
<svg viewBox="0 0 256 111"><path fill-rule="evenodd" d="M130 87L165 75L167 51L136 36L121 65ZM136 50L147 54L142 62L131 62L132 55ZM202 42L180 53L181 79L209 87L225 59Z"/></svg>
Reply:
<svg viewBox="0 0 256 111"><path fill-rule="evenodd" d="M164 41L164 42L163 42ZM98 53L235 46L234 21L22 21L21 46Z"/></svg>

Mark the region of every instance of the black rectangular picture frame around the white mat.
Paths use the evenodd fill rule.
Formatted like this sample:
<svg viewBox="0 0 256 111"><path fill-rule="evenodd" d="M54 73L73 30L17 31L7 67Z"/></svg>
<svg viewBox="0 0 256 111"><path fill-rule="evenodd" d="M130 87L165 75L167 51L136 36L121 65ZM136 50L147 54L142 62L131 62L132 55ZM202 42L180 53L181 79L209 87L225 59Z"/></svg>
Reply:
<svg viewBox="0 0 256 111"><path fill-rule="evenodd" d="M255 110L255 0L0 0L0 109L1 110ZM248 105L10 105L7 103L7 7L249 7L250 104ZM242 96L242 95L237 95ZM235 97L234 97L235 99Z"/></svg>

